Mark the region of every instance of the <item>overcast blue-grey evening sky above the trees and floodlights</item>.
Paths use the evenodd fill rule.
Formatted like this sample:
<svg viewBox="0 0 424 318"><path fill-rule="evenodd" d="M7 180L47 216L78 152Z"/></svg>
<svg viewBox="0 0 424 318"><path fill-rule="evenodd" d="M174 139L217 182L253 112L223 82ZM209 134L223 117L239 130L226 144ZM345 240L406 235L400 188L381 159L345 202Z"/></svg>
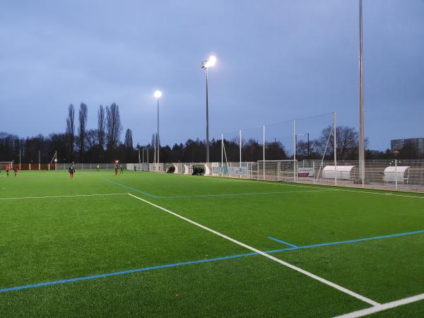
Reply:
<svg viewBox="0 0 424 318"><path fill-rule="evenodd" d="M424 137L424 1L363 8L365 134L385 149ZM0 131L64 131L81 102L95 128L116 102L145 144L160 89L162 143L204 139L210 54L212 137L334 110L358 127L358 0L22 0L0 4Z"/></svg>

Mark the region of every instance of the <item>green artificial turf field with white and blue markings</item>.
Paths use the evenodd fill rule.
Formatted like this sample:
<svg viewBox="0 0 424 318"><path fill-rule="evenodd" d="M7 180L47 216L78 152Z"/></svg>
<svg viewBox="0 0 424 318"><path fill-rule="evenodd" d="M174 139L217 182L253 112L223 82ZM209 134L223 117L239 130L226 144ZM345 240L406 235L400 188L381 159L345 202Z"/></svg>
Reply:
<svg viewBox="0 0 424 318"><path fill-rule="evenodd" d="M424 316L423 194L1 173L0 232L1 317Z"/></svg>

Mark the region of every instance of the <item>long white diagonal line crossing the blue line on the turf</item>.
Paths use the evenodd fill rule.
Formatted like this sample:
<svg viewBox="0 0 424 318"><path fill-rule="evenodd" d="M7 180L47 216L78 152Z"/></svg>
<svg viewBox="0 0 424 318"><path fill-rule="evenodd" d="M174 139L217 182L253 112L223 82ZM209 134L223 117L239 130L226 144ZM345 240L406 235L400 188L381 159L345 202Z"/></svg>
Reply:
<svg viewBox="0 0 424 318"><path fill-rule="evenodd" d="M282 264L284 266L287 266L290 269L294 269L295 271L298 271L299 273L302 273L302 274L304 274L306 276L309 276L310 278L314 278L315 280L320 281L321 283L324 283L326 285L329 285L332 288L336 288L337 290L340 290L343 293L346 293L348 295L351 295L354 298L357 298L359 300L362 300L363 302L367 302L368 304L373 305L373 306L379 305L379 303L378 302L375 302L374 300L370 300L369 298L366 298L363 295L359 295L359 294L353 292L352 290L348 290L347 288L344 288L344 287L342 287L340 285L337 285L335 283L331 283L331 281L327 281L326 279L321 278L321 277L319 277L317 275L314 275L313 273L310 273L309 271L305 271L304 269L300 269L297 266L294 266L292 264L289 264L289 263L287 263L285 261L281 261L281 259L277 259L276 257L273 257L272 255L269 255L269 254L266 254L266 253L260 251L259 249L255 249L254 247L251 247L249 245L246 245L245 243L242 243L240 241L237 241L237 240L235 240L235 239L233 239L231 237L228 237L227 235L223 235L222 233L217 232L216 230L212 230L211 228L207 228L206 226L201 225L199 223L196 223L193 220L190 220L189 218L185 218L184 216L180 216L179 214L177 214L175 212L172 212L170 210L167 210L166 208L163 208L162 206L158 206L157 204L153 204L150 201L147 201L145 199L141 199L141 198L139 198L139 196L134 196L134 194L130 194L129 193L128 195L129 196L132 196L132 197L134 197L134 198L136 198L136 199L138 199L140 201L143 201L146 204L150 204L151 206L155 206L155 208L159 208L162 211L165 211L167 213L170 213L170 214L172 214L172 216L176 216L177 218L181 218L182 220L185 220L185 221L187 221L189 223L192 223L192 224L194 224L196 226L199 226L199 228L203 228L204 230L207 230L208 232L211 232L211 233L213 233L215 235L218 235L220 237L223 237L223 238L225 238L225 240L229 240L229 241L231 241L231 242L233 242L233 243L235 243L237 245L240 245L242 247L245 247L246 249L250 249L253 252L257 252L258 254L261 254L263 257L266 257L268 259L272 259L273 261L276 261L279 264Z"/></svg>

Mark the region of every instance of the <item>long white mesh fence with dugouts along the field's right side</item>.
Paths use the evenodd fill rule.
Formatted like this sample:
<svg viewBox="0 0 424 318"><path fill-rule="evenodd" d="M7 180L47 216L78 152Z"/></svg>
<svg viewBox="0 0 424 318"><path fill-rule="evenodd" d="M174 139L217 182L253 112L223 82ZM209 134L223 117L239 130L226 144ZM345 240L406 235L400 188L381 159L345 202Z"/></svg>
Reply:
<svg viewBox="0 0 424 318"><path fill-rule="evenodd" d="M136 164L136 170L192 175L202 167L205 175L276 182L363 187L393 191L424 192L424 160L260 160L242 163ZM363 176L360 166L363 166ZM134 169L134 165L131 166ZM170 170L171 168L171 170Z"/></svg>

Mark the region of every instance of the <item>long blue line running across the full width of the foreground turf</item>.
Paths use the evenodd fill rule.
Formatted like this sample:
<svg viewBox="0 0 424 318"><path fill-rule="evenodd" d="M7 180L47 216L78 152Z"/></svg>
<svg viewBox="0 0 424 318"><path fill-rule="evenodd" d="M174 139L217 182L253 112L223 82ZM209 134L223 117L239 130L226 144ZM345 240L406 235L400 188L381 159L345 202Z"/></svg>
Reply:
<svg viewBox="0 0 424 318"><path fill-rule="evenodd" d="M322 246L327 246L327 245L338 245L338 244L346 244L346 243L353 243L353 242L363 242L363 241L369 241L369 240L379 240L379 239L383 239L383 238L387 238L387 237L399 237L399 236L404 236L404 235L413 235L413 234L420 234L420 233L424 233L424 230L419 230L419 231L414 231L414 232L404 232L404 233L391 234L391 235L381 235L381 236L375 236L375 237L366 237L366 238L358 239L358 240L329 242L329 243L305 245L305 246L298 246L298 247L294 247L295 245L293 245L293 247L289 247L289 248L286 248L286 249L273 249L271 251L264 251L264 253L273 254L273 253L278 253L278 252L293 251L295 249L309 249L309 248L312 248L312 247L322 247ZM279 242L283 242L283 241L279 241ZM288 243L283 242L283 244L288 244ZM240 257L250 257L250 256L258 255L258 254L259 253L257 253L257 252L252 252L252 253L247 253L247 254L230 255L230 256L226 256L226 257L216 257L216 258L213 258L213 259L199 259L197 261L184 261L184 262L181 262L181 263L150 266L150 267L144 267L144 268L141 268L141 269L129 269L128 271L117 271L117 272L114 272L114 273L103 273L103 274L93 275L93 276L69 278L69 279L63 279L63 280L60 280L60 281L47 281L45 283L36 283L36 284L32 284L32 285L21 285L21 286L15 286L15 287L2 288L2 289L0 289L0 293L6 293L6 292L9 292L9 291L13 291L13 290L23 290L23 289L29 289L29 288L37 288L37 287L48 286L48 285L73 283L73 282L76 282L76 281L88 281L88 280L97 279L97 278L105 278L105 277L110 277L110 276L125 275L125 274L129 274L129 273L138 273L140 271L151 271L153 269L166 269L166 268L169 268L169 267L184 266L184 265L190 265L190 264L208 263L210 261L221 261L221 260L224 260L224 259L237 259L237 258L240 258Z"/></svg>

